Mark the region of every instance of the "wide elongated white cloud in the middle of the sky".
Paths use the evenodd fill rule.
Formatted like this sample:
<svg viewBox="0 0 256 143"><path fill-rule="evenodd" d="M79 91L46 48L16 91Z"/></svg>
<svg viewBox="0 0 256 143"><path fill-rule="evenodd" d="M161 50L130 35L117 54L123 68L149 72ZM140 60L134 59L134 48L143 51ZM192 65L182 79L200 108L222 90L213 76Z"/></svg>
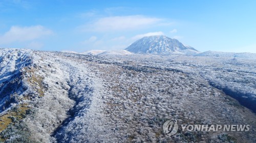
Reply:
<svg viewBox="0 0 256 143"><path fill-rule="evenodd" d="M113 16L113 17L104 17L100 18L89 25L84 25L82 28L85 31L97 31L97 32L106 32L106 31L116 31L116 30L132 30L143 28L146 26L152 26L156 23L159 23L161 19L145 17L141 15L132 15L132 16Z"/></svg>

